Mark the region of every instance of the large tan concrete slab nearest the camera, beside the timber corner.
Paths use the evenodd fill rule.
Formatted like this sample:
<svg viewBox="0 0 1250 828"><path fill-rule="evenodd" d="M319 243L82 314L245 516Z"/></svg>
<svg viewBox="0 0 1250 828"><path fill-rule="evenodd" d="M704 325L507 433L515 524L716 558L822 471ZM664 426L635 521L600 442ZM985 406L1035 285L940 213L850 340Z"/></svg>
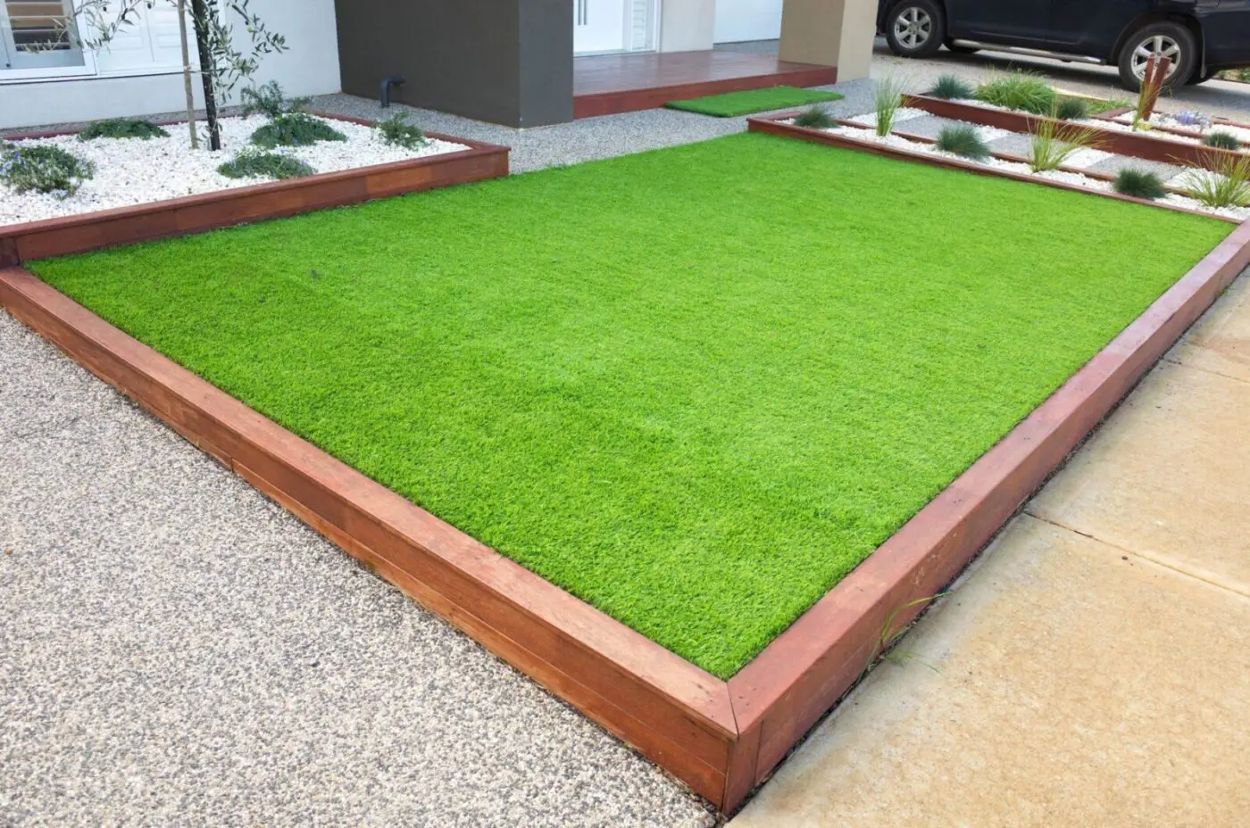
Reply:
<svg viewBox="0 0 1250 828"><path fill-rule="evenodd" d="M732 828L1250 813L1244 596L1021 516L900 648Z"/></svg>

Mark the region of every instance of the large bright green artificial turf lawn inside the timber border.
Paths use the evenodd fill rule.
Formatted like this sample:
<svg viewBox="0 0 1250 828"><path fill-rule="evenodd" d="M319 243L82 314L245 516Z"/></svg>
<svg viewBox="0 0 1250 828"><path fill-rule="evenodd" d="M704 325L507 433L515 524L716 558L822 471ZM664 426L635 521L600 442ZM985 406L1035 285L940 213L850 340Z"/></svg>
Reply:
<svg viewBox="0 0 1250 828"><path fill-rule="evenodd" d="M729 677L1230 229L739 135L31 270Z"/></svg>

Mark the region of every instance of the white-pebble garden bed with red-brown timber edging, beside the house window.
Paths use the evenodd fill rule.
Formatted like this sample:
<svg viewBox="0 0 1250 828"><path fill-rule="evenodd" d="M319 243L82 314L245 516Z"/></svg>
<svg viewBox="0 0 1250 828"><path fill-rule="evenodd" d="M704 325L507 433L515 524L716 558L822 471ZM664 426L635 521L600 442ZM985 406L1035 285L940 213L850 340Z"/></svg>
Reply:
<svg viewBox="0 0 1250 828"><path fill-rule="evenodd" d="M420 147L386 146L360 119L316 114L348 141L290 147L315 175L228 179L216 167L264 119L222 119L222 152L191 150L185 125L169 137L79 141L76 132L15 135L22 145L68 146L95 165L74 195L18 195L0 185L0 265L292 216L370 199L508 175L508 147L430 134Z"/></svg>

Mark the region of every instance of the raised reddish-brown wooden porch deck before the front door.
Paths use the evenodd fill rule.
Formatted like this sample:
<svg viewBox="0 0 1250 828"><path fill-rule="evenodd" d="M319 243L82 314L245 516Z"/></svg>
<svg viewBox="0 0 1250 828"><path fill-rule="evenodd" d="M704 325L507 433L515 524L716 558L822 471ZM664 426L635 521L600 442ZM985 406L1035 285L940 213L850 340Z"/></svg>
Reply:
<svg viewBox="0 0 1250 828"><path fill-rule="evenodd" d="M572 71L574 117L634 112L749 89L838 82L834 66L716 50L578 57Z"/></svg>

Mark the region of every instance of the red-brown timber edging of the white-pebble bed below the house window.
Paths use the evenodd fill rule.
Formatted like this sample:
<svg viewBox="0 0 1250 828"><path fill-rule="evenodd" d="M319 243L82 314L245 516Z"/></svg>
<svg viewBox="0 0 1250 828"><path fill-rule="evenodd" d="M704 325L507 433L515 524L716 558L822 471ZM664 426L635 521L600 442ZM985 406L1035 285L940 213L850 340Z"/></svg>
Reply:
<svg viewBox="0 0 1250 828"><path fill-rule="evenodd" d="M322 116L354 124L371 124L361 119ZM9 137L50 137L60 134L41 132ZM325 207L342 207L372 199L508 175L506 146L435 132L430 132L429 136L462 144L469 149L424 159L320 172L302 179L231 187L182 199L166 199L132 207L0 225L0 267L11 267L35 259L81 254L266 219L295 216Z"/></svg>

